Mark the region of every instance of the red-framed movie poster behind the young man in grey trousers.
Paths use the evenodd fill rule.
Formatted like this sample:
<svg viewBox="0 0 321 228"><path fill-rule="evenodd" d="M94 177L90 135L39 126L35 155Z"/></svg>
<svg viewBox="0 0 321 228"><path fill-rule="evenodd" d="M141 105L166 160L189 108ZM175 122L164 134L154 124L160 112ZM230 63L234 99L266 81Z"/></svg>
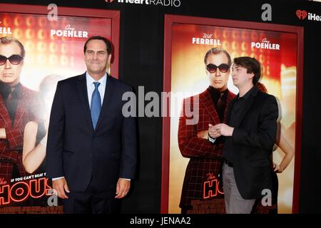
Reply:
<svg viewBox="0 0 321 228"><path fill-rule="evenodd" d="M238 94L230 66L233 58L240 56L260 61L260 89L277 98L278 135L270 163L280 165L283 160L282 164L287 163L285 170L273 173L275 181L272 191L276 192L277 197L272 197L272 203L266 207L259 201L255 202L253 213L295 212L298 181L295 164L300 161L297 134L300 133L302 113L300 38L302 31L295 26L165 16L164 91L172 96L170 118L163 118L163 212L225 213L220 177L223 142L213 145L208 135L202 134L208 130L208 123L224 123L226 113L215 103L213 88L220 84L223 88L226 84L226 93L222 95L226 108ZM230 61L226 53L223 53L226 59L215 60L218 62L215 71L220 73L216 81L210 78L209 71L213 71L213 67L206 65L206 53L210 50L212 53L225 51L230 56ZM185 116L182 113L187 111L187 105L182 105L183 100L193 96L198 97L199 106L190 104L188 110L192 113ZM187 121L192 118L194 123L188 125Z"/></svg>

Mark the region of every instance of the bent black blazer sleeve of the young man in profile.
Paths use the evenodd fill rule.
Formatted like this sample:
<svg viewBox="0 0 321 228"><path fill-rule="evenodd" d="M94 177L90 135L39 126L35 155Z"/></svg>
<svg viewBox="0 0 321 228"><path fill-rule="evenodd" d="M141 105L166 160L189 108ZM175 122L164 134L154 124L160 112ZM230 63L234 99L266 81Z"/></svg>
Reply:
<svg viewBox="0 0 321 228"><path fill-rule="evenodd" d="M258 130L235 128L232 135L233 142L238 145L272 150L277 133L277 116L277 101L274 96L269 95L258 117Z"/></svg>

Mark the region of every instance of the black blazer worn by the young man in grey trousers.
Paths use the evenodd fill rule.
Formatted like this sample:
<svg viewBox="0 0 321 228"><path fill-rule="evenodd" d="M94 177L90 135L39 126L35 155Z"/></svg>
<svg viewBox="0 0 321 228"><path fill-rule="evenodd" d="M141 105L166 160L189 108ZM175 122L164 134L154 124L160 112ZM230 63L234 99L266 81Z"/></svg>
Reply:
<svg viewBox="0 0 321 228"><path fill-rule="evenodd" d="M228 106L227 124L234 104L235 98ZM233 151L235 182L244 199L258 199L266 194L262 195L262 190L273 190L270 155L277 133L277 101L255 87L240 112L229 147Z"/></svg>

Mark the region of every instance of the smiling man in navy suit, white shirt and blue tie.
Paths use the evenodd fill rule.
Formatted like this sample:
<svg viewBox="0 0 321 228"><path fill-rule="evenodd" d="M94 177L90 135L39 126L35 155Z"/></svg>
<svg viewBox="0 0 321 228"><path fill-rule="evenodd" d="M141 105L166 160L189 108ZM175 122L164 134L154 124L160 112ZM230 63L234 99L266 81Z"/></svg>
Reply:
<svg viewBox="0 0 321 228"><path fill-rule="evenodd" d="M136 170L136 120L122 113L123 93L132 88L106 73L111 61L106 38L88 38L83 52L86 73L56 88L46 171L64 212L112 213Z"/></svg>

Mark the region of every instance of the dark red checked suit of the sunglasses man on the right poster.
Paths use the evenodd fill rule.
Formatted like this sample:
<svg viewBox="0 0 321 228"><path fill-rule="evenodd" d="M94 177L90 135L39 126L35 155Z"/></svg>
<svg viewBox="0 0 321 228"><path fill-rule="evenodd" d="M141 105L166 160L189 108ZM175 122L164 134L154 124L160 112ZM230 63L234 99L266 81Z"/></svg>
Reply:
<svg viewBox="0 0 321 228"><path fill-rule="evenodd" d="M228 91L226 103L228 104L234 96L233 93ZM183 207L188 206L190 212L187 211L187 213L192 211L203 213L204 211L195 209L202 204L200 201L218 198L220 200L217 204L220 204L220 206L213 208L212 212L225 213L223 191L217 188L218 175L222 165L220 158L222 156L223 143L213 145L204 138L198 138L198 132L206 130L208 124L221 123L209 88L200 93L199 105L199 120L197 124L186 125L185 116L181 117L179 122L178 145L180 152L183 157L190 158L185 172L180 207L183 209ZM222 183L220 182L221 185Z"/></svg>

